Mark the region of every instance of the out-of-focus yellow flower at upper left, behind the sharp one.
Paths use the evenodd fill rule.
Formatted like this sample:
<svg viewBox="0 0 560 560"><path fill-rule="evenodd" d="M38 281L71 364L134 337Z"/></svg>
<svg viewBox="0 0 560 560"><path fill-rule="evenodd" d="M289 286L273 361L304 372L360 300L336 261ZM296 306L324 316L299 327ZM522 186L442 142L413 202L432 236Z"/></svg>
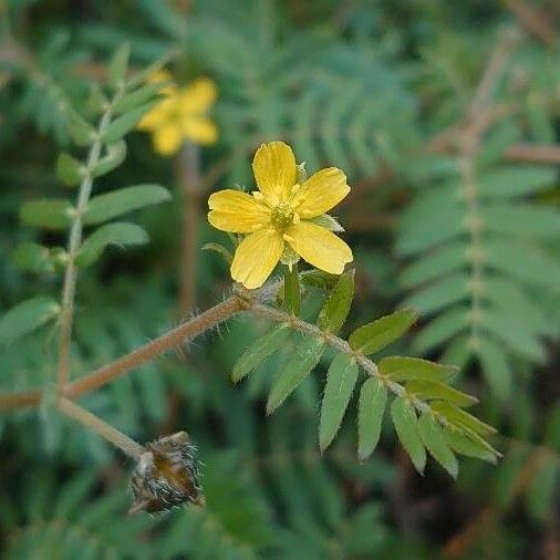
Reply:
<svg viewBox="0 0 560 560"><path fill-rule="evenodd" d="M157 72L149 82L167 82L167 72ZM196 144L214 144L218 137L216 124L207 113L216 102L216 84L208 77L198 77L185 87L175 83L162 89L163 101L138 123L137 128L153 133L154 149L170 156L182 143L189 139Z"/></svg>

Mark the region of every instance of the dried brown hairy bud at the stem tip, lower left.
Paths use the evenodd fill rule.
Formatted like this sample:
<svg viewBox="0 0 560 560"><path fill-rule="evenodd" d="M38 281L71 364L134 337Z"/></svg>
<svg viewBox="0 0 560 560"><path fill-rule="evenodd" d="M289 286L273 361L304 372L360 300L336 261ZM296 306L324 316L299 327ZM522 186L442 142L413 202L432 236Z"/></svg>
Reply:
<svg viewBox="0 0 560 560"><path fill-rule="evenodd" d="M129 514L168 511L183 504L204 506L196 447L186 432L146 445L131 479L134 504Z"/></svg>

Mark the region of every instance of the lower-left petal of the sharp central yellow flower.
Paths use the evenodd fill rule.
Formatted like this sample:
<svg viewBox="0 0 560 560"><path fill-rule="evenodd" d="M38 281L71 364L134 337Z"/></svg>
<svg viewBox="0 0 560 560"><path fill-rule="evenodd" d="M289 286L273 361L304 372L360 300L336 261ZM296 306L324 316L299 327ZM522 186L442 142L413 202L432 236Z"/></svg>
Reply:
<svg viewBox="0 0 560 560"><path fill-rule="evenodd" d="M237 248L231 278L252 290L260 288L278 265L284 242L273 228L247 236Z"/></svg>

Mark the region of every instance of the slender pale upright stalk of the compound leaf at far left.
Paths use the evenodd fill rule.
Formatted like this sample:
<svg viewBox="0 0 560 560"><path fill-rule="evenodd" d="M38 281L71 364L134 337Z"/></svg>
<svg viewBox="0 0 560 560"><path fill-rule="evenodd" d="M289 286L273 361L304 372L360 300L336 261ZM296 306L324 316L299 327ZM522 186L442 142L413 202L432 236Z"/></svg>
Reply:
<svg viewBox="0 0 560 560"><path fill-rule="evenodd" d="M87 155L84 178L80 185L74 219L70 229L68 263L64 273L64 284L62 289L62 311L60 318L59 367L56 375L59 395L62 394L64 385L68 383L70 376L70 343L72 339L72 326L74 321L74 297L77 280L75 258L82 242L83 214L85 212L87 203L90 201L93 186L93 173L100 159L101 151L103 147L103 142L101 138L106 127L111 123L113 106L120 100L123 92L124 86L116 92L107 110L101 117L100 124L97 126L96 139L92 144L90 153Z"/></svg>

